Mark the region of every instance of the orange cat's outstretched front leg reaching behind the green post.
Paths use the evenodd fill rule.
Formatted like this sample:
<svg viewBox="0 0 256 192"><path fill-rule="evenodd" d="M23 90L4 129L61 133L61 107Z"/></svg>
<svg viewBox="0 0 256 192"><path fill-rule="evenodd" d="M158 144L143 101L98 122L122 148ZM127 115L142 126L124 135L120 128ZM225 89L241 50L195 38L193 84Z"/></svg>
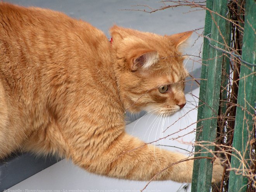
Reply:
<svg viewBox="0 0 256 192"><path fill-rule="evenodd" d="M108 146L94 142L95 150L88 152L86 146L78 143L74 146L71 157L75 164L86 170L110 177L129 180L150 180L159 173L156 180L191 182L193 160L177 163L187 157L182 154L160 150L153 145L145 145L139 139L126 133L120 134ZM80 147L80 149L76 149ZM213 182L220 182L223 167L217 161L213 168Z"/></svg>

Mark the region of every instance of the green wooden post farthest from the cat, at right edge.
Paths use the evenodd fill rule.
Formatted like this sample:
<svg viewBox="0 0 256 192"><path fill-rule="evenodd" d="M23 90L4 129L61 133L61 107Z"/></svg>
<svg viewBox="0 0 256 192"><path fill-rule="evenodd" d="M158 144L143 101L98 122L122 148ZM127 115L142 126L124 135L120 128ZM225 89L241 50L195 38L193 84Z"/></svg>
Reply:
<svg viewBox="0 0 256 192"><path fill-rule="evenodd" d="M256 63L256 3L254 0L247 0L245 3L244 38L242 47L242 59L249 63ZM237 98L237 111L235 117L235 130L233 147L238 150L244 159L249 158L249 142L253 130L253 114L256 105L256 69L245 63L241 64L240 81ZM252 134L252 133L251 133ZM236 153L233 153L237 156ZM231 157L231 167L239 168L240 161L234 156ZM241 167L240 167L241 168ZM247 189L247 178L235 171L230 171L228 185L229 192L245 192Z"/></svg>

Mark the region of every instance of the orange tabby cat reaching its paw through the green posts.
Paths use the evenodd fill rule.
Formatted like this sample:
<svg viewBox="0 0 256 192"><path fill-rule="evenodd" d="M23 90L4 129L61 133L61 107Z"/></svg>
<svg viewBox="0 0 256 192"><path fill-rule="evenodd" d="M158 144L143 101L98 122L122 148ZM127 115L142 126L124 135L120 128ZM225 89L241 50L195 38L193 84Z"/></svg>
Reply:
<svg viewBox="0 0 256 192"><path fill-rule="evenodd" d="M0 158L15 150L57 154L131 180L186 158L128 135L124 113L170 115L185 105L183 58L168 56L181 54L192 32L110 32L112 43L60 12L0 2ZM192 160L175 164L156 180L191 182L192 167ZM216 161L213 182L222 170Z"/></svg>

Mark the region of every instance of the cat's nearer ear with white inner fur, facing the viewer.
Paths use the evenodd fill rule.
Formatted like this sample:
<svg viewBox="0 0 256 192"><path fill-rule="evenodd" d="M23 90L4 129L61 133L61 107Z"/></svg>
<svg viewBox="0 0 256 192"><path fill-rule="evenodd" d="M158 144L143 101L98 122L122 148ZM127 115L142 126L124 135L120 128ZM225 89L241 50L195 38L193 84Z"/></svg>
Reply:
<svg viewBox="0 0 256 192"><path fill-rule="evenodd" d="M158 53L155 50L140 49L135 51L135 55L131 59L131 71L137 69L148 69L158 61Z"/></svg>

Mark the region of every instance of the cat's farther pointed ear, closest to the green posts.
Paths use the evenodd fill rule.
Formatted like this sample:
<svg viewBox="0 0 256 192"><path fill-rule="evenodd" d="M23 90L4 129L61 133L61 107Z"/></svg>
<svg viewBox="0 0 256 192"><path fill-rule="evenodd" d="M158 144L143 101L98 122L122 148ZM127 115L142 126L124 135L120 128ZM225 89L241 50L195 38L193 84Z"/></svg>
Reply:
<svg viewBox="0 0 256 192"><path fill-rule="evenodd" d="M192 33L193 33L193 31L186 31L186 32L183 32L183 33L176 33L174 35L168 36L168 38L171 40L171 44L175 48L181 48L187 43L187 40L192 35Z"/></svg>

